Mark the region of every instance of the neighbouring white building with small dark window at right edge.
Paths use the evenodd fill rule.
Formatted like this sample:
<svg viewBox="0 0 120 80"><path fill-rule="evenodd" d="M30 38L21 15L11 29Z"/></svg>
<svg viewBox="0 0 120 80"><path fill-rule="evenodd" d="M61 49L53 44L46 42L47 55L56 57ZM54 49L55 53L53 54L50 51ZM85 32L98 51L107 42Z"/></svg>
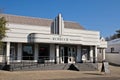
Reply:
<svg viewBox="0 0 120 80"><path fill-rule="evenodd" d="M115 65L120 65L120 38L108 41L106 61Z"/></svg>

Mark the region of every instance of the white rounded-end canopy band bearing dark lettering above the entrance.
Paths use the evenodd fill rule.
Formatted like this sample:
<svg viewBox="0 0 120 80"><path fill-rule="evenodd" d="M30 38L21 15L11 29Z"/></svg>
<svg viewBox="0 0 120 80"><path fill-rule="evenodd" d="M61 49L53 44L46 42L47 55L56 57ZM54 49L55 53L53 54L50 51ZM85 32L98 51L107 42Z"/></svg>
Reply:
<svg viewBox="0 0 120 80"><path fill-rule="evenodd" d="M94 37L94 36L93 36ZM57 35L31 33L28 37L29 42L36 43L55 43L55 44L82 44L82 45L100 45L99 38L84 38L79 35Z"/></svg>

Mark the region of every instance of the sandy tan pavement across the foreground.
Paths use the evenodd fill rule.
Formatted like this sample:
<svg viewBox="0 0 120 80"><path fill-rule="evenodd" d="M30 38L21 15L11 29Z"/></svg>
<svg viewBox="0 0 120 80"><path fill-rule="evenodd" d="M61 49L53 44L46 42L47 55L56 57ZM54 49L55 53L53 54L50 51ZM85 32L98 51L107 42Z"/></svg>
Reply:
<svg viewBox="0 0 120 80"><path fill-rule="evenodd" d="M120 67L109 66L110 73L100 71L0 71L0 80L120 80Z"/></svg>

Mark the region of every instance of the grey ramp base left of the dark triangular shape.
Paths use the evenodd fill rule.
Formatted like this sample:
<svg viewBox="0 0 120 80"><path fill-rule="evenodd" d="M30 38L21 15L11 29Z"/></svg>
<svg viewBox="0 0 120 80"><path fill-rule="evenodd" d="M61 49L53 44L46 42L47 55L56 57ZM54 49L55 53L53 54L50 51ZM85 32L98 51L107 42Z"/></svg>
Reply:
<svg viewBox="0 0 120 80"><path fill-rule="evenodd" d="M67 70L69 64L11 65L10 70Z"/></svg>

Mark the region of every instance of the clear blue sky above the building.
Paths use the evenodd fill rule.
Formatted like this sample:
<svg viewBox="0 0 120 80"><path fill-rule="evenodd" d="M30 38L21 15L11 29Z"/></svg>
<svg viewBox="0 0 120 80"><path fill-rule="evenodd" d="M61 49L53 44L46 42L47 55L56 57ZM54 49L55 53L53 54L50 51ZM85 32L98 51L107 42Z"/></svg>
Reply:
<svg viewBox="0 0 120 80"><path fill-rule="evenodd" d="M120 0L0 0L6 14L75 21L106 37L120 29Z"/></svg>

